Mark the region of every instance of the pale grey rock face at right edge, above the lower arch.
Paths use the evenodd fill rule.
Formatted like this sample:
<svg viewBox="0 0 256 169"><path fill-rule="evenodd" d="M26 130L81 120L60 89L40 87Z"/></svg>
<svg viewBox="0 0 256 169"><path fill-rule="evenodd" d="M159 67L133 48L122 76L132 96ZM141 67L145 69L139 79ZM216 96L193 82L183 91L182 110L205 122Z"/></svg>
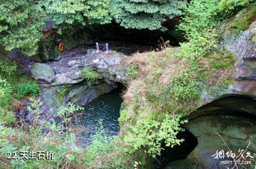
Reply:
<svg viewBox="0 0 256 169"><path fill-rule="evenodd" d="M228 93L256 94L256 21L245 31L227 30L220 47L233 53L237 60L235 81Z"/></svg>

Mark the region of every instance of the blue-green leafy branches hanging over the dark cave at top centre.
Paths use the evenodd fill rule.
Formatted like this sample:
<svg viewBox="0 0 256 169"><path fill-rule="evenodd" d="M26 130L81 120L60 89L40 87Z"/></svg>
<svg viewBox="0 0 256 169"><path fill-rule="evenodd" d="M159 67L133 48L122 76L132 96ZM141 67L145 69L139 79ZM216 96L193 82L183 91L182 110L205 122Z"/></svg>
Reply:
<svg viewBox="0 0 256 169"><path fill-rule="evenodd" d="M165 30L161 23L175 16L181 16L186 7L183 0L114 0L113 16L124 28Z"/></svg>

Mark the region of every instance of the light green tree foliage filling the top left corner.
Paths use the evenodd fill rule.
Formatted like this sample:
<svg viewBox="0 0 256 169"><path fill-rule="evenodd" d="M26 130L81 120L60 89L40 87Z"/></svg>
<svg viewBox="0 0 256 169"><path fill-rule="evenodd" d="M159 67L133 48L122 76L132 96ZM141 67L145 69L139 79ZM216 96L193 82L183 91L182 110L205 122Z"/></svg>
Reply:
<svg viewBox="0 0 256 169"><path fill-rule="evenodd" d="M35 55L43 28L43 11L37 1L1 1L0 43L6 50L21 49Z"/></svg>

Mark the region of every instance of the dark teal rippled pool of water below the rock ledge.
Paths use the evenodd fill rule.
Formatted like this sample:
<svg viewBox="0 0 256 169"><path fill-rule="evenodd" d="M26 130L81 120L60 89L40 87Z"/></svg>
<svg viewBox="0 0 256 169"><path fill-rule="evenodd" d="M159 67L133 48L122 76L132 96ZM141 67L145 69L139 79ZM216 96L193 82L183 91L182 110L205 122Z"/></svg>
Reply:
<svg viewBox="0 0 256 169"><path fill-rule="evenodd" d="M119 110L122 103L121 90L113 91L93 101L85 107L85 110L77 117L76 126L79 129L78 138L83 145L90 144L90 136L100 128L102 120L103 128L107 136L119 134Z"/></svg>

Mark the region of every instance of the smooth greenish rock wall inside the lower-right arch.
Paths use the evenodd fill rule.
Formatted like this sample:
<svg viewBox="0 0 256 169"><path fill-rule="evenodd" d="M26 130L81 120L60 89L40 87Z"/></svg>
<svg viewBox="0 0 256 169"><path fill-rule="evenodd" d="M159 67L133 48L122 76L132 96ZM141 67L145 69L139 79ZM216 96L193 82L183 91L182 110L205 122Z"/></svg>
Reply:
<svg viewBox="0 0 256 169"><path fill-rule="evenodd" d="M252 118L218 115L202 116L191 120L186 127L197 137L198 146L188 155L185 160L174 161L169 163L166 169L181 168L236 168L234 163L223 164L221 161L233 161L228 152L232 151L236 157L240 155L239 150L255 153L256 148L256 122ZM220 136L218 136L218 134ZM217 152L224 152L216 155ZM223 156L223 158L219 157ZM218 159L217 159L218 158ZM239 157L238 157L239 158ZM243 160L241 158L241 160ZM246 158L245 161L252 161L252 158ZM234 167L235 166L235 167ZM237 165L238 168L250 168L250 165Z"/></svg>

